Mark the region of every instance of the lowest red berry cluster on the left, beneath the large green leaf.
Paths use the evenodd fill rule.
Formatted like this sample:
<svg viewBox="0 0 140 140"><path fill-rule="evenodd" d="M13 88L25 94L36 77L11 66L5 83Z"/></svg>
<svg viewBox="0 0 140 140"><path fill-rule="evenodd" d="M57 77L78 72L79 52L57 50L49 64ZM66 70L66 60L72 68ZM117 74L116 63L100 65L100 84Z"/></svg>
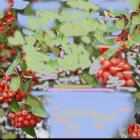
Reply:
<svg viewBox="0 0 140 140"><path fill-rule="evenodd" d="M16 114L11 112L8 114L8 117L12 121L12 125L16 126L16 128L34 128L37 123L40 123L40 117L28 113L27 110L18 111Z"/></svg>

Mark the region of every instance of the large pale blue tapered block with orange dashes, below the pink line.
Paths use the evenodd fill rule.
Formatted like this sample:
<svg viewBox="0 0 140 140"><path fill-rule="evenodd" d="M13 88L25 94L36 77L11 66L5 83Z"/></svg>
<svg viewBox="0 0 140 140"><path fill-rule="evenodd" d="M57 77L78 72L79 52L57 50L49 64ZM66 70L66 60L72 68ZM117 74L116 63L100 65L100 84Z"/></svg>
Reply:
<svg viewBox="0 0 140 140"><path fill-rule="evenodd" d="M112 138L116 130L125 127L129 119L133 119L135 99L129 93L109 92L32 92L34 95L46 95L48 104L46 110L49 114L51 138ZM60 109L52 110L52 107ZM118 111L118 109L131 109L131 111ZM67 116L65 111L85 111L85 115ZM98 119L92 114L86 116L86 111L98 111ZM62 116L51 116L62 114ZM109 115L110 114L110 115ZM97 115L96 112L94 114ZM111 118L104 120L103 115ZM65 122L54 122L63 118ZM78 127L69 128L69 125ZM102 125L97 129L94 125ZM78 132L79 135L65 135L64 133Z"/></svg>

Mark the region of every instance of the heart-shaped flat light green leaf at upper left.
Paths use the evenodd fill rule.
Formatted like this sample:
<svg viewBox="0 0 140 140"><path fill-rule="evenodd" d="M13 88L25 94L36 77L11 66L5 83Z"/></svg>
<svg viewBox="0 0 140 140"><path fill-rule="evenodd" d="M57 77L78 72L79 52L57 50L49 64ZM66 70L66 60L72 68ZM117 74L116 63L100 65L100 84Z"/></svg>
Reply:
<svg viewBox="0 0 140 140"><path fill-rule="evenodd" d="M25 44L24 38L20 31L16 31L14 37L9 37L8 43L10 45L23 45Z"/></svg>

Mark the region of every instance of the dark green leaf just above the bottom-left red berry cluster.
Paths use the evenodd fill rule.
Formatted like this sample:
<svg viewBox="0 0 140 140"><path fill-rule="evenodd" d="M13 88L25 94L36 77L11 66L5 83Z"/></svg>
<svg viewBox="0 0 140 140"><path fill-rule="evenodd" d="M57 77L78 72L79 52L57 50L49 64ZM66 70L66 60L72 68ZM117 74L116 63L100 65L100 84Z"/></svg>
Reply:
<svg viewBox="0 0 140 140"><path fill-rule="evenodd" d="M16 97L14 97L14 100L11 103L9 103L9 107L15 113L17 113L20 110Z"/></svg>

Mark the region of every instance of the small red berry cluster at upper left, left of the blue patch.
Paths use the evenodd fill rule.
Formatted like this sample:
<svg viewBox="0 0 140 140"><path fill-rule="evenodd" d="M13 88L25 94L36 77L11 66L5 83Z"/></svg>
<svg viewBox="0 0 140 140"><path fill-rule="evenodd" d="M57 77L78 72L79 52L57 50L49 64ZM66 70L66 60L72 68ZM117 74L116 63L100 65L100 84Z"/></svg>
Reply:
<svg viewBox="0 0 140 140"><path fill-rule="evenodd" d="M2 19L5 21L4 24L9 25L14 21L15 17L11 11L7 11L6 16Z"/></svg>

